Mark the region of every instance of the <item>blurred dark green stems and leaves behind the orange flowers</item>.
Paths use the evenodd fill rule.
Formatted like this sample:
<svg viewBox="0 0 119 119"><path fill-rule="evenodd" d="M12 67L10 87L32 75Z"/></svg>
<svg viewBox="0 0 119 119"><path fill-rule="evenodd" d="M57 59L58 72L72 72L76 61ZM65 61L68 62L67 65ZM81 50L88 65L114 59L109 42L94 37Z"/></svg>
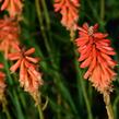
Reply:
<svg viewBox="0 0 119 119"><path fill-rule="evenodd" d="M41 102L48 105L44 110L45 119L107 119L103 96L83 79L85 70L80 69L79 53L69 32L61 25L61 15L53 11L53 0L24 0L23 21L21 21L21 41L27 48L35 47L39 57L39 68L45 84L39 90ZM87 22L99 24L99 31L109 34L116 59L119 60L119 1L118 0L81 0L79 25ZM38 11L40 12L38 14ZM1 13L5 14L5 12ZM41 24L40 24L41 23ZM76 33L78 34L78 33ZM20 87L14 75L7 72L7 110L10 119L38 119L38 110L33 98ZM119 66L116 71L119 72ZM15 76L15 78L16 78ZM114 82L110 94L115 119L119 119L119 76ZM11 82L12 81L12 82ZM0 108L0 119L8 116Z"/></svg>

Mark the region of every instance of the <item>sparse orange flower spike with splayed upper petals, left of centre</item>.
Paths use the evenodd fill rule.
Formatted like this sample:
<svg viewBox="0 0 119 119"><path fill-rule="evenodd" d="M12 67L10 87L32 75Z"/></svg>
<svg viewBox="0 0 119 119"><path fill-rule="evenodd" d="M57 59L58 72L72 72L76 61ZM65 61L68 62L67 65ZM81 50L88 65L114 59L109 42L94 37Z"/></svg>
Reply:
<svg viewBox="0 0 119 119"><path fill-rule="evenodd" d="M14 61L10 70L14 73L20 68L20 84L34 98L38 94L39 85L43 85L41 74L37 71L38 58L32 58L31 55L35 52L35 48L24 50L17 47L17 52L9 53L9 59Z"/></svg>

